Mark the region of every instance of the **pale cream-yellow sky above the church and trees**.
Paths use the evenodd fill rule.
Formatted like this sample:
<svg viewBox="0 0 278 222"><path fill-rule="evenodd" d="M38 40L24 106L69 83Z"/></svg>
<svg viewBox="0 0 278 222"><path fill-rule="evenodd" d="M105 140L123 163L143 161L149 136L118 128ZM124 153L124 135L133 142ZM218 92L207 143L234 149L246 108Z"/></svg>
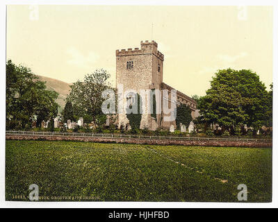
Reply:
<svg viewBox="0 0 278 222"><path fill-rule="evenodd" d="M188 96L229 67L272 83L271 6L7 6L7 59L66 83L104 68L115 85L115 51L141 40L158 43L163 82Z"/></svg>

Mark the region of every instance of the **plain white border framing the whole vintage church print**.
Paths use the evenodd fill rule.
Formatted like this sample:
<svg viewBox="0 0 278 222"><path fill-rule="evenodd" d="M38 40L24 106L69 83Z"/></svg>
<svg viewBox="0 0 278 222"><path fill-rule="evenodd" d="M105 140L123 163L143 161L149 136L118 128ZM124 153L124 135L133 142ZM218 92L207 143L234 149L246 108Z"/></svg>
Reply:
<svg viewBox="0 0 278 222"><path fill-rule="evenodd" d="M183 208L183 207L277 207L278 206L278 151L277 151L277 116L275 111L277 111L277 103L274 103L273 107L273 171L272 171L272 203L182 203L182 202L172 202L172 203L157 203L157 202L15 202L15 201L5 201L5 112L6 112L6 99L5 99L5 92L6 92L6 5L11 4L44 4L44 5L51 5L51 4L58 4L58 5L164 5L164 6L207 6L209 3L210 6L273 6L273 85L275 88L277 86L277 71L278 71L278 6L277 1L177 1L177 0L167 0L167 1L105 1L105 0L96 0L96 1L88 1L88 0L81 0L81 1L65 1L65 0L43 0L43 1L24 1L24 0L10 0L10 1L1 1L0 5L0 45L1 45L1 62L0 62L0 70L1 70L1 108L0 108L0 135L1 135L1 153L0 153L0 207L100 207L100 208L133 208L133 207L146 207L146 208ZM277 91L274 91L274 99L278 98Z"/></svg>

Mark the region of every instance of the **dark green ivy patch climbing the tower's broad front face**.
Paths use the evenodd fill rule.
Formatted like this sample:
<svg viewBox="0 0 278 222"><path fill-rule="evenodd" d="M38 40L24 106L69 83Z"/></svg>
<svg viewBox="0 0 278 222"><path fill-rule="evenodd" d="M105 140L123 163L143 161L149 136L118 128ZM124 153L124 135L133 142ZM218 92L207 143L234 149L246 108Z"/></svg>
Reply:
<svg viewBox="0 0 278 222"><path fill-rule="evenodd" d="M139 129L141 119L142 119L142 114L140 114L140 105L142 104L142 98L139 94L136 94L136 101L137 101L137 103L130 105L129 109L132 109L133 106L136 106L137 113L133 113L133 111L131 111L130 114L126 114L126 117L127 117L127 119L129 119L129 124L130 124L131 128ZM128 109L126 108L126 113L127 113L127 110Z"/></svg>

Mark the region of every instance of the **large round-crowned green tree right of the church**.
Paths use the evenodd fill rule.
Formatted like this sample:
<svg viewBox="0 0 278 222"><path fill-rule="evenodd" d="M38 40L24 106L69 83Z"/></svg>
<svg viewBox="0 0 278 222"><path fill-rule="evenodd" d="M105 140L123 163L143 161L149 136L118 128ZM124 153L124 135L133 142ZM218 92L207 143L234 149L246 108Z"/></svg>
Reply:
<svg viewBox="0 0 278 222"><path fill-rule="evenodd" d="M213 76L206 96L199 99L199 109L206 123L231 130L247 124L257 130L267 123L268 92L255 72L222 69Z"/></svg>

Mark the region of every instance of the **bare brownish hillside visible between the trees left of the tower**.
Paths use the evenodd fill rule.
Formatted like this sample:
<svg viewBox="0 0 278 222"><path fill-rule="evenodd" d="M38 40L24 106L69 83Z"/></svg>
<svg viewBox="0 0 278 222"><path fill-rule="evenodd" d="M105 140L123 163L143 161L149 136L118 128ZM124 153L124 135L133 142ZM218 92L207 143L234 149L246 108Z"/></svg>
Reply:
<svg viewBox="0 0 278 222"><path fill-rule="evenodd" d="M58 112L61 112L63 108L65 108L65 99L67 97L67 94L70 93L70 85L72 85L72 83L65 83L61 80L57 80L55 78L48 78L45 76L38 77L39 80L46 82L47 89L58 92L59 96L56 102L58 103L58 105L60 105Z"/></svg>

